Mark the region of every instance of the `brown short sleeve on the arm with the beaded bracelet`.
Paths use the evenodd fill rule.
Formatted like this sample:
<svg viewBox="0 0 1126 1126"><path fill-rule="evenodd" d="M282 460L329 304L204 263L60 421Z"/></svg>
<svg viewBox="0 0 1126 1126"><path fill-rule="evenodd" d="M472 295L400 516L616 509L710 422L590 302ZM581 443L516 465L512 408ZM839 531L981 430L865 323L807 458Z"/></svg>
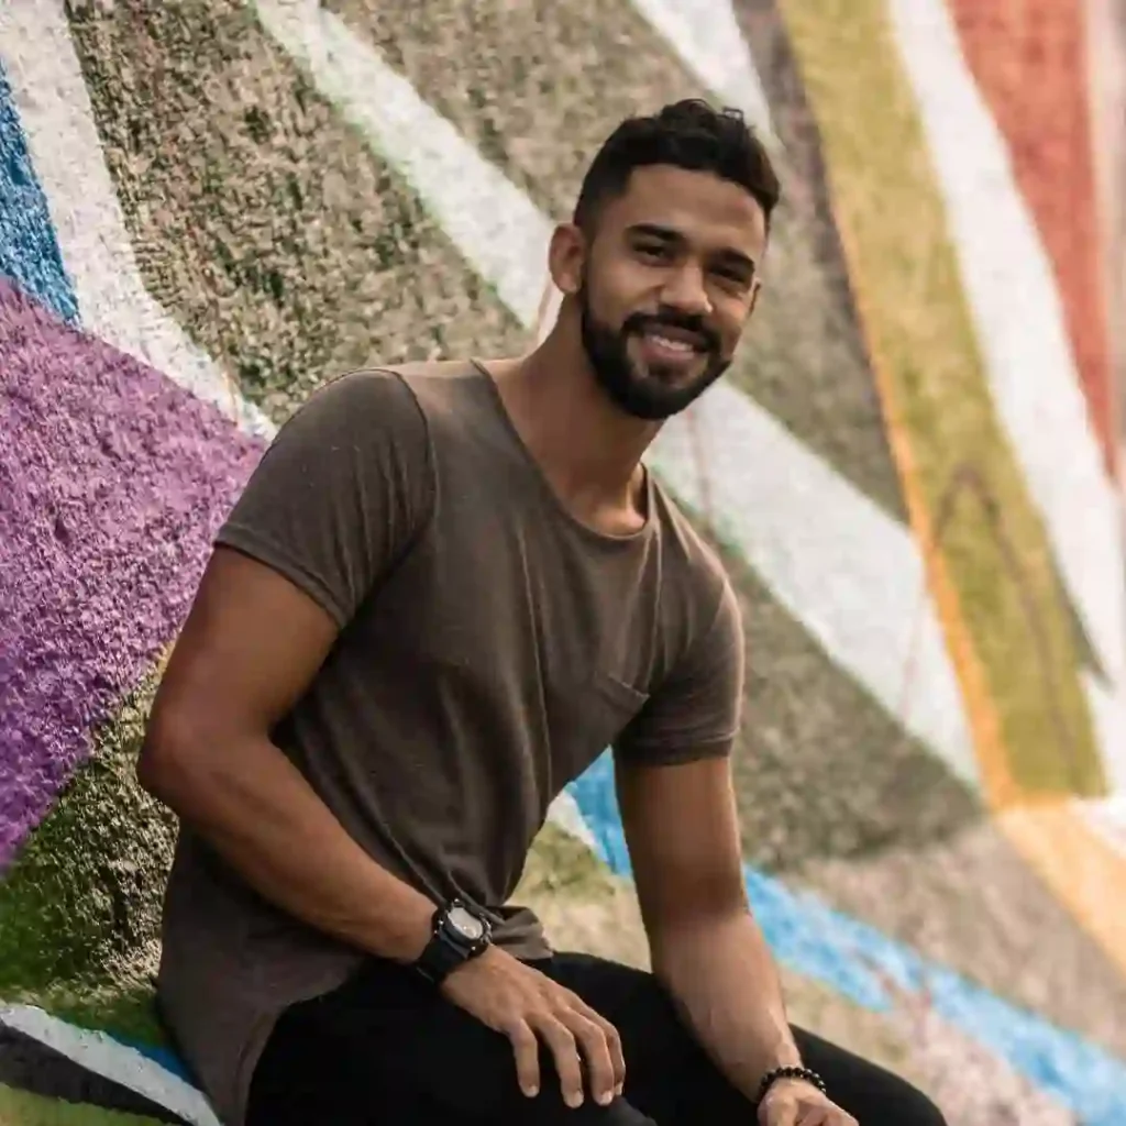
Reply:
<svg viewBox="0 0 1126 1126"><path fill-rule="evenodd" d="M743 627L725 579L711 625L654 689L614 751L623 762L671 765L731 753L743 701Z"/></svg>

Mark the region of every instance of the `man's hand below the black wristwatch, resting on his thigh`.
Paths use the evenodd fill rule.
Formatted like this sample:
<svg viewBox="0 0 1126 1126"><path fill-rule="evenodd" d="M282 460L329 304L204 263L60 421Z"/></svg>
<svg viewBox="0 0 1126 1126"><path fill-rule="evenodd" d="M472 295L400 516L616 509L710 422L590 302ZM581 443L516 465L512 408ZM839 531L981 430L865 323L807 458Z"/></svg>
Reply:
<svg viewBox="0 0 1126 1126"><path fill-rule="evenodd" d="M512 1042L520 1089L539 1093L539 1040L555 1057L563 1101L583 1100L582 1061L590 1091L604 1106L622 1093L626 1065L617 1029L582 998L498 947L458 966L441 991L454 1004ZM581 1053L581 1056L580 1056Z"/></svg>

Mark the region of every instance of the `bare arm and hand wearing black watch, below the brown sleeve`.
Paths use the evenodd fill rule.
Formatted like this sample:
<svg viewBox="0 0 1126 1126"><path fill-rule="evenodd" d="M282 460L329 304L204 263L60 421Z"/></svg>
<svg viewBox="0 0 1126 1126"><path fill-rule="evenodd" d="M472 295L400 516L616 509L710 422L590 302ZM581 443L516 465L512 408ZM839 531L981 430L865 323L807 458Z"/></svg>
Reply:
<svg viewBox="0 0 1126 1126"><path fill-rule="evenodd" d="M411 963L435 904L364 852L269 739L337 633L287 579L220 547L157 694L137 774L265 899L360 950ZM539 1089L540 1044L570 1106L583 1100L580 1051L593 1096L620 1093L613 1026L510 954L491 948L455 969L443 993L511 1040L528 1096Z"/></svg>

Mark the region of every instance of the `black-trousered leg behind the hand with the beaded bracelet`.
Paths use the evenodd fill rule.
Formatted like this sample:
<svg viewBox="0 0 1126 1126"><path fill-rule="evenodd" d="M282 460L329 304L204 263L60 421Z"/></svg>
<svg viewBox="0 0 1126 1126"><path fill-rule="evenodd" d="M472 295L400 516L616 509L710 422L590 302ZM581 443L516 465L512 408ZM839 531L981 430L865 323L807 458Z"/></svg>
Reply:
<svg viewBox="0 0 1126 1126"><path fill-rule="evenodd" d="M558 955L553 976L622 1035L625 1097L660 1126L748 1126L748 1100L720 1074L656 980L587 955ZM817 1036L794 1029L807 1066L860 1126L945 1126L938 1108L904 1080Z"/></svg>

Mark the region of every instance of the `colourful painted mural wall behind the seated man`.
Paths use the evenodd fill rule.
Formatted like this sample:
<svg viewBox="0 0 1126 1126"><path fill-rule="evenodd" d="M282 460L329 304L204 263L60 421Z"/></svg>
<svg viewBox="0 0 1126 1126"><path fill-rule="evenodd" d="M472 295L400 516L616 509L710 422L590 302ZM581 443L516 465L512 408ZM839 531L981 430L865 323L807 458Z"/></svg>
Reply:
<svg viewBox="0 0 1126 1126"><path fill-rule="evenodd" d="M740 357L651 464L742 599L747 879L792 1017L951 1124L1123 1120L1124 311L1087 19L0 3L0 1121L214 1123L151 1006L175 826L133 781L211 536L324 379L527 348L587 161L682 96L742 108L785 193ZM644 963L608 758L521 895Z"/></svg>

